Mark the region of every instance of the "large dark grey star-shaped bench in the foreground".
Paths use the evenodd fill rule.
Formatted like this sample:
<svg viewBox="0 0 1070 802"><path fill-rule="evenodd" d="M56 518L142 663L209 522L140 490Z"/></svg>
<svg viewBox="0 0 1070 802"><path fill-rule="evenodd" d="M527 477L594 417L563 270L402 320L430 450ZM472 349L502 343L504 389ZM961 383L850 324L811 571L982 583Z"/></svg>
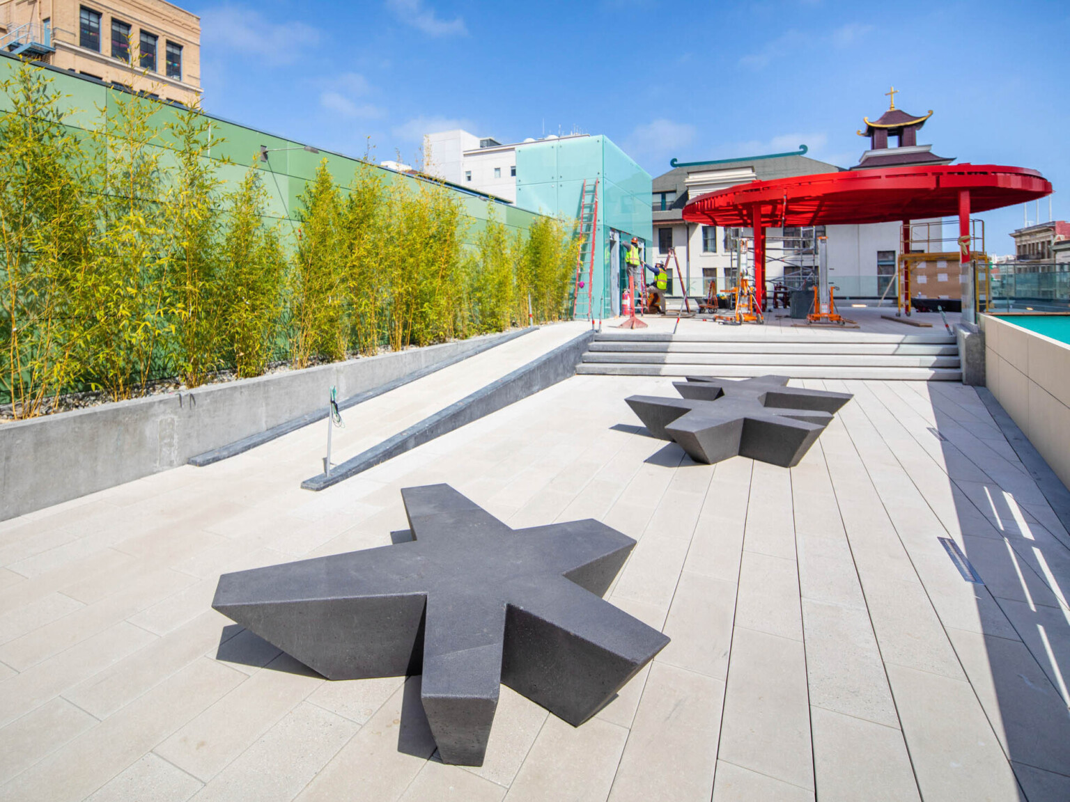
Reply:
<svg viewBox="0 0 1070 802"><path fill-rule="evenodd" d="M328 679L423 673L445 762L482 766L499 684L574 726L669 638L601 599L636 541L511 529L448 484L401 491L413 542L219 577L212 606Z"/></svg>

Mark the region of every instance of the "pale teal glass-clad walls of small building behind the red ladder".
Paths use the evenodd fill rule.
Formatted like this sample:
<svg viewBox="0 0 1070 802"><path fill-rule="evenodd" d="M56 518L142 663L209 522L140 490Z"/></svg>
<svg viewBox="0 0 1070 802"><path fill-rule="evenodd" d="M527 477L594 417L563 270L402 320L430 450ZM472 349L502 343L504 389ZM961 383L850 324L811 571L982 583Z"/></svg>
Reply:
<svg viewBox="0 0 1070 802"><path fill-rule="evenodd" d="M592 282L595 314L609 317L613 306L610 229L630 242L638 236L653 247L652 179L608 137L551 139L517 146L517 205L547 215L577 218L583 181L598 180L595 268ZM623 268L622 268L623 269Z"/></svg>

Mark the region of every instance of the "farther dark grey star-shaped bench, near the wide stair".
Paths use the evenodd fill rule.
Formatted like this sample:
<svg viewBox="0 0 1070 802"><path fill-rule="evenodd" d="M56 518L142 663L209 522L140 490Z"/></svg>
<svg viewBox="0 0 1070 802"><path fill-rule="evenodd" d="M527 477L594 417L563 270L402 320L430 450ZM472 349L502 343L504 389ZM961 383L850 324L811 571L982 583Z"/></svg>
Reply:
<svg viewBox="0 0 1070 802"><path fill-rule="evenodd" d="M786 384L788 376L775 375L737 382L687 376L673 383L682 398L625 401L651 434L675 441L696 462L738 454L792 467L852 396Z"/></svg>

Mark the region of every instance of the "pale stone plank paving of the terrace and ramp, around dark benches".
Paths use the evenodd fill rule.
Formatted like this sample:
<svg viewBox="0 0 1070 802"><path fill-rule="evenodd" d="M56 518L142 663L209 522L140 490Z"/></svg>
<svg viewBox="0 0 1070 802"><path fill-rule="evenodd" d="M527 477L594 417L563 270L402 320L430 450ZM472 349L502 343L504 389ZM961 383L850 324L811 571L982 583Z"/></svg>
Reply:
<svg viewBox="0 0 1070 802"><path fill-rule="evenodd" d="M350 411L339 456L576 331ZM854 400L784 469L646 436L624 398L670 385L577 376L321 493L314 426L3 522L0 799L1070 798L1070 535L976 392L793 382ZM439 481L636 538L608 598L672 638L579 728L503 688L479 768L437 760L418 677L328 682L210 607L223 572L392 542Z"/></svg>

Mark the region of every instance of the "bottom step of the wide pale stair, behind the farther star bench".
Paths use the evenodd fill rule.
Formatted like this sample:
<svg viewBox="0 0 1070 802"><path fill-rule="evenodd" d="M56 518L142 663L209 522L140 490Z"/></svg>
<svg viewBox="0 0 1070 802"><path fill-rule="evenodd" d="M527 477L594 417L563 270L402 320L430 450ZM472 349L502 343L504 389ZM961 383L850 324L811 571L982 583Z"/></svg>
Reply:
<svg viewBox="0 0 1070 802"><path fill-rule="evenodd" d="M716 376L719 379L747 379L766 374L791 379L870 379L903 380L915 382L961 382L959 368L918 367L846 367L798 365L649 365L629 363L583 363L578 365L579 375L630 376Z"/></svg>

